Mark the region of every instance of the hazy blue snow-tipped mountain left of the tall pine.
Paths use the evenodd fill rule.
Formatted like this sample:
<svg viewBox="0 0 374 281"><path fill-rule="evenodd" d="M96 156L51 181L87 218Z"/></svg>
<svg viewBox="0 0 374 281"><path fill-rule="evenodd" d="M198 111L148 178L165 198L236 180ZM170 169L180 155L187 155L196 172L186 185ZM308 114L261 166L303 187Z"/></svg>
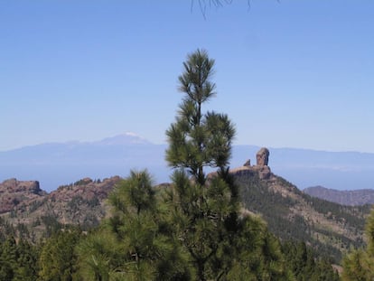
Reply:
<svg viewBox="0 0 374 281"><path fill-rule="evenodd" d="M51 192L61 184L90 177L126 176L131 169L145 169L155 181L167 181L165 145L153 145L126 133L96 142L68 142L25 146L0 152L0 181L35 180Z"/></svg>

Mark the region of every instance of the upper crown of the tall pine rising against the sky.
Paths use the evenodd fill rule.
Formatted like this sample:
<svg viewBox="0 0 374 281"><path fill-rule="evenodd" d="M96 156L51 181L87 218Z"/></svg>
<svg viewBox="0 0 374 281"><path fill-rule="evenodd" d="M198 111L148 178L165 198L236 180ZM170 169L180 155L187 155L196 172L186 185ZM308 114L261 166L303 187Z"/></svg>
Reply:
<svg viewBox="0 0 374 281"><path fill-rule="evenodd" d="M203 185L203 167L229 164L235 128L229 117L215 112L203 114L202 104L215 95L211 82L214 61L208 53L197 50L183 62L179 89L185 94L176 122L166 131L169 148L166 161L174 168L186 169Z"/></svg>

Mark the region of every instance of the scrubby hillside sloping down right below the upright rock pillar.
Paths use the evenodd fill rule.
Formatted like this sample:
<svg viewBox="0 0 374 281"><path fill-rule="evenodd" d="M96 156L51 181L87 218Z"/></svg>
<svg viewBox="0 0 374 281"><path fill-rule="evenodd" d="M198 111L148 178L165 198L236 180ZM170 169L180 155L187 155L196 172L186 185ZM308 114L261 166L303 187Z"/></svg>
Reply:
<svg viewBox="0 0 374 281"><path fill-rule="evenodd" d="M342 206L313 198L274 174L260 179L257 173L240 170L235 178L245 207L261 214L276 237L304 241L335 263L348 249L364 245L369 205Z"/></svg>

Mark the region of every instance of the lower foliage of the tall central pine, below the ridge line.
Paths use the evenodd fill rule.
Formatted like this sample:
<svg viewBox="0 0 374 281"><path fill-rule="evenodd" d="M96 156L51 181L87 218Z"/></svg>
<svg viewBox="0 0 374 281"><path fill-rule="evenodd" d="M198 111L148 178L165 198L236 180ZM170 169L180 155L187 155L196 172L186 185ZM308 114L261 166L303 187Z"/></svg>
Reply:
<svg viewBox="0 0 374 281"><path fill-rule="evenodd" d="M201 187L191 183L183 171L173 173L173 183L175 193L170 193L166 201L173 210L176 239L189 253L198 279L204 279L214 274L208 264L223 250L225 221L232 211L229 188L219 178Z"/></svg>

